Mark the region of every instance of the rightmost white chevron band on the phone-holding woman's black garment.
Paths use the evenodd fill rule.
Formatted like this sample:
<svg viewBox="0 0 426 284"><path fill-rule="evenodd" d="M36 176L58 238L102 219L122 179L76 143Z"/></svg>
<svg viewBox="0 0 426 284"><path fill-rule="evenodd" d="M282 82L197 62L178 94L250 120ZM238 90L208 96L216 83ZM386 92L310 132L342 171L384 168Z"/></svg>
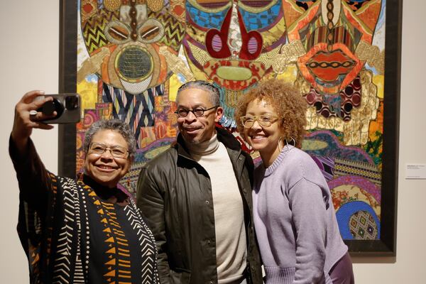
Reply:
<svg viewBox="0 0 426 284"><path fill-rule="evenodd" d="M131 200L130 206L125 207L126 216L129 218L129 222L133 227L133 230L138 234L138 239L141 244L141 251L145 252L142 260L142 278L141 283L143 284L155 284L159 283L159 279L153 279L153 275L157 273L157 263L155 261L157 250L155 248L155 239L151 230L146 226L145 222L139 214L136 204Z"/></svg>

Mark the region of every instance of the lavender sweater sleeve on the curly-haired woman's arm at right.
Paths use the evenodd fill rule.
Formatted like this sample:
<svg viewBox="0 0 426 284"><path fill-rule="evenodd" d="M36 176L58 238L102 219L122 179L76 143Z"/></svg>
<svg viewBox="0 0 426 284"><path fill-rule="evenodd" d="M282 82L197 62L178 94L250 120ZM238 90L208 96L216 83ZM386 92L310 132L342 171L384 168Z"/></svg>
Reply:
<svg viewBox="0 0 426 284"><path fill-rule="evenodd" d="M296 233L294 284L321 283L324 277L327 217L321 188L305 178L289 189Z"/></svg>

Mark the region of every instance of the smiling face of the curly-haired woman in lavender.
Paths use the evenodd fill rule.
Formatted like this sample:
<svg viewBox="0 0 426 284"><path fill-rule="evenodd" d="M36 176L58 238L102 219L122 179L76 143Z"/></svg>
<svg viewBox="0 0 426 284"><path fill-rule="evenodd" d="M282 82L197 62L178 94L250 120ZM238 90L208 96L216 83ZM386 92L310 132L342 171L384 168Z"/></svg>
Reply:
<svg viewBox="0 0 426 284"><path fill-rule="evenodd" d="M275 109L265 100L255 99L247 105L246 116L270 116L278 117ZM254 151L259 151L263 163L268 166L268 162L273 162L278 157L280 128L278 121L273 122L271 126L262 127L255 121L251 128L244 127L244 136Z"/></svg>

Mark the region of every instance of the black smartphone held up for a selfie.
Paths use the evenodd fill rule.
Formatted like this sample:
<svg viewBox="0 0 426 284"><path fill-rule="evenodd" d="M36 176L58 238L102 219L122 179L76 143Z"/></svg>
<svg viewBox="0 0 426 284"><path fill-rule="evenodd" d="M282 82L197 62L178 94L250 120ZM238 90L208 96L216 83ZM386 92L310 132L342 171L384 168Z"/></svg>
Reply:
<svg viewBox="0 0 426 284"><path fill-rule="evenodd" d="M45 115L52 115L56 111L56 116L45 119L46 124L75 124L80 121L80 94L45 94L44 97L53 97L50 102L45 102L37 111Z"/></svg>

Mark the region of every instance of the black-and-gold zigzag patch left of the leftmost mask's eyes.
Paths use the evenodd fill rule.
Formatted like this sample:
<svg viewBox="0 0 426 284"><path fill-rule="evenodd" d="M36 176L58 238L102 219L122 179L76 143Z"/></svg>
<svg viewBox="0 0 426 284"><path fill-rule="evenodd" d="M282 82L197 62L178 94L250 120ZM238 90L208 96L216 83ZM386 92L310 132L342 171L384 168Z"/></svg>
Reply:
<svg viewBox="0 0 426 284"><path fill-rule="evenodd" d="M105 37L104 28L107 26L109 21L119 20L119 15L116 13L118 12L102 10L99 15L89 18L89 20L84 24L82 28L84 43L86 44L86 48L89 54L92 53L93 50L102 48L102 46L109 43Z"/></svg>

